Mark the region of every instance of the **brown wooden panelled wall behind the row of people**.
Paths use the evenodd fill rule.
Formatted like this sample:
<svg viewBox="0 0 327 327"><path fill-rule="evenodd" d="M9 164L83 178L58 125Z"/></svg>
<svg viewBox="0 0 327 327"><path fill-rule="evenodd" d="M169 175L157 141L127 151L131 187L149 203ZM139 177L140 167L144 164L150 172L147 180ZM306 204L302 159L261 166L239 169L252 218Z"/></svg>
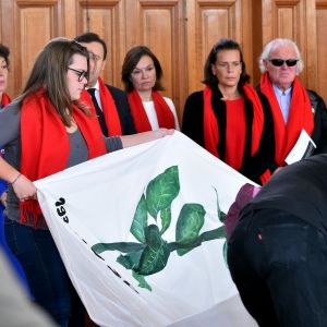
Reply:
<svg viewBox="0 0 327 327"><path fill-rule="evenodd" d="M92 31L109 50L102 77L118 87L125 52L150 47L162 64L164 95L180 119L186 96L203 87L206 57L221 37L241 44L254 85L263 46L292 38L305 63L301 81L327 100L327 0L0 0L0 41L11 49L12 96L49 39Z"/></svg>

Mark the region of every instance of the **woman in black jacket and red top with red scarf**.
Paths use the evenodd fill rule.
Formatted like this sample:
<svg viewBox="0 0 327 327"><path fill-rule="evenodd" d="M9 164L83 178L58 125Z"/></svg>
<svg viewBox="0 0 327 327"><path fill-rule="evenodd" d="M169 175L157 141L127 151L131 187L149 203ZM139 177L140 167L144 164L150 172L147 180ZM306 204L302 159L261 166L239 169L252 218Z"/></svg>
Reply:
<svg viewBox="0 0 327 327"><path fill-rule="evenodd" d="M204 68L204 90L189 96L182 132L249 179L263 184L274 161L267 100L249 84L240 45L221 39Z"/></svg>

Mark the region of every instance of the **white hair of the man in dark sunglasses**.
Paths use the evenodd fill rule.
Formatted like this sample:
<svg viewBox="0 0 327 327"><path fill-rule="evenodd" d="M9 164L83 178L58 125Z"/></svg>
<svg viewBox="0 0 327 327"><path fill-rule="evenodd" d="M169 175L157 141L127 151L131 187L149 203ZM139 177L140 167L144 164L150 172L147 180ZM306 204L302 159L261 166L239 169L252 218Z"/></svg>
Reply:
<svg viewBox="0 0 327 327"><path fill-rule="evenodd" d="M296 44L294 41L292 41L289 38L275 38L272 40L270 40L264 48L261 57L259 57L259 69L261 72L264 73L266 71L266 66L264 61L269 59L270 52L272 48L276 48L278 46L291 46L293 47L295 53L296 53L296 59L299 59L298 63L296 63L296 75L299 75L303 69L304 69L304 63L301 57L301 52L299 50L299 47L296 46Z"/></svg>

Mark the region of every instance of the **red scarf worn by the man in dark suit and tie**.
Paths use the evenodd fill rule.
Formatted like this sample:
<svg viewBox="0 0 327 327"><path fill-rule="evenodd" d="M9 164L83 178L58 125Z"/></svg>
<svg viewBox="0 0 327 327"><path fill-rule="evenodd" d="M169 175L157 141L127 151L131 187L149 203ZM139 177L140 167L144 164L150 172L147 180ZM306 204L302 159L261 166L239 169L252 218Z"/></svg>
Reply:
<svg viewBox="0 0 327 327"><path fill-rule="evenodd" d="M120 119L112 95L104 81L101 78L98 78L98 81L102 112L108 128L108 136L122 135Z"/></svg>

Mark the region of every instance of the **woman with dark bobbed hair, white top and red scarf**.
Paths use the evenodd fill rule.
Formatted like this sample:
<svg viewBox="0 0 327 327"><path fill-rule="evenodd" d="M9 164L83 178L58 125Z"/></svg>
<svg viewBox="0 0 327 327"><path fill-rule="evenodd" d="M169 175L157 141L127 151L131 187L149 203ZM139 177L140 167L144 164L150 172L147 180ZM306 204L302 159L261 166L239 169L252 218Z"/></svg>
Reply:
<svg viewBox="0 0 327 327"><path fill-rule="evenodd" d="M180 129L172 100L158 93L164 89L161 77L160 62L149 48L137 46L126 53L122 82L138 133L159 128Z"/></svg>

